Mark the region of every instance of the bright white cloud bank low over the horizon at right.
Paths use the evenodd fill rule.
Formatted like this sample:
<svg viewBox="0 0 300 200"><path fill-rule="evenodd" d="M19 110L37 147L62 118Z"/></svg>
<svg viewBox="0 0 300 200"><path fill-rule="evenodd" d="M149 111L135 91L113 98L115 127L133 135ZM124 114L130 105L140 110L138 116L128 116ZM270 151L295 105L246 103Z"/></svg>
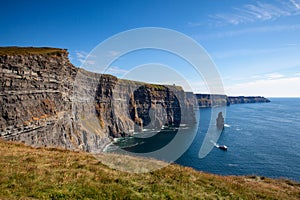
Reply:
<svg viewBox="0 0 300 200"><path fill-rule="evenodd" d="M228 95L300 97L300 77L260 79L226 87Z"/></svg>

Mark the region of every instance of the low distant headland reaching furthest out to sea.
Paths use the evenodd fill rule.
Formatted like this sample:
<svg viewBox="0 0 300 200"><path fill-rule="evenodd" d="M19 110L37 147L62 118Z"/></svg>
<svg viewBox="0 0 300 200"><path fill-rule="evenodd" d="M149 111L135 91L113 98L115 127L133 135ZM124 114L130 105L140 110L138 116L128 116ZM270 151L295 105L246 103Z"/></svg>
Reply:
<svg viewBox="0 0 300 200"><path fill-rule="evenodd" d="M199 107L229 106L231 104L242 103L269 103L270 100L261 96L227 96L227 95L211 95L196 94Z"/></svg>

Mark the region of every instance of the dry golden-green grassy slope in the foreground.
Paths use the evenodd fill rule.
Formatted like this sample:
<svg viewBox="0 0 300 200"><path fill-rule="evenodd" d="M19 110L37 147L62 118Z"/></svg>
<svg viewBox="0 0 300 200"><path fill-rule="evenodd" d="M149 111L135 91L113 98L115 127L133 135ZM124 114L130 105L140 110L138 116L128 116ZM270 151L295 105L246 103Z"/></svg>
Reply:
<svg viewBox="0 0 300 200"><path fill-rule="evenodd" d="M120 155L103 154L96 159L83 152L35 149L4 141L0 141L0 155L0 199L300 198L300 184L289 180L217 176L177 165L135 174L99 161L130 160Z"/></svg>

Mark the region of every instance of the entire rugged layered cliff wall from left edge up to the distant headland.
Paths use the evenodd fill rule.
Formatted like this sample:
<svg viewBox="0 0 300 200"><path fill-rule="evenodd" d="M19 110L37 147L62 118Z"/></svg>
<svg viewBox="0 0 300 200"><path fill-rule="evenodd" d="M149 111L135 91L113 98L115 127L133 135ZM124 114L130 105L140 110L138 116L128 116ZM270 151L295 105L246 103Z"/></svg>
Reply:
<svg viewBox="0 0 300 200"><path fill-rule="evenodd" d="M25 50L0 49L0 137L6 140L98 152L109 137L195 122L196 99L180 88L87 72L69 62L66 50Z"/></svg>

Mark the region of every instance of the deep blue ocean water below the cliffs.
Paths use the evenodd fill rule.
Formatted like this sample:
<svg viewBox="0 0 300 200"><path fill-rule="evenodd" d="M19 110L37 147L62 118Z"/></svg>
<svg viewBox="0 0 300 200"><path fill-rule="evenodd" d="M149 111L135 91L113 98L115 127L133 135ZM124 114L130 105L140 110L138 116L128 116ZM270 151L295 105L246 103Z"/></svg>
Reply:
<svg viewBox="0 0 300 200"><path fill-rule="evenodd" d="M270 100L271 103L228 106L225 128L216 141L226 145L228 150L213 148L204 158L198 155L207 133L211 108L201 108L197 113L199 123L196 135L175 163L214 174L257 175L300 181L300 98ZM163 137L166 135L162 134ZM165 139L155 137L151 144L158 147L165 145L161 141ZM122 139L115 143L131 151L147 151L152 148L151 144L143 137ZM109 151L117 152L116 146Z"/></svg>

